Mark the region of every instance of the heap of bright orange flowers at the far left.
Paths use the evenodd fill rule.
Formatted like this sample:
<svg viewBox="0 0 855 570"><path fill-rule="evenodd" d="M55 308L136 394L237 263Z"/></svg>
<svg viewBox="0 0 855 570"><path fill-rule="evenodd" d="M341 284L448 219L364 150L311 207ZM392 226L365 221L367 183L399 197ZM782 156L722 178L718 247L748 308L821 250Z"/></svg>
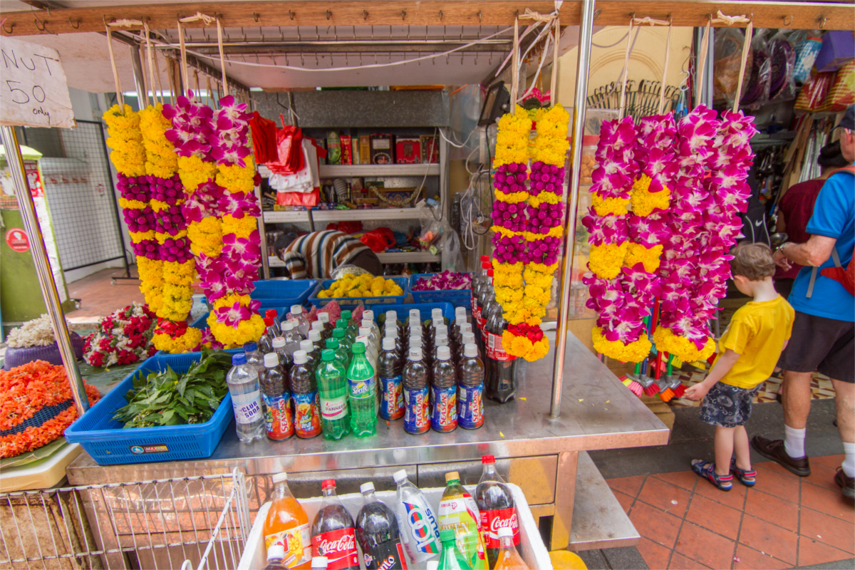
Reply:
<svg viewBox="0 0 855 570"><path fill-rule="evenodd" d="M85 385L85 391L90 406L101 398L94 386ZM65 367L33 361L9 372L0 371L0 432L20 426L45 406L56 406L69 399L71 386ZM71 406L41 426L0 436L0 457L15 457L50 444L62 438L74 420L77 420L77 409Z"/></svg>

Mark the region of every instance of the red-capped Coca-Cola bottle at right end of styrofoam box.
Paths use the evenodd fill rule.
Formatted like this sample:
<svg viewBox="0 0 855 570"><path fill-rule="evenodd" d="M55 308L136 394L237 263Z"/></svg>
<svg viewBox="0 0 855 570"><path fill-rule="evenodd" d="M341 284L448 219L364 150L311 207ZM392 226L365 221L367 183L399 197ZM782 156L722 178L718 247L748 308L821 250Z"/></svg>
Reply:
<svg viewBox="0 0 855 570"><path fill-rule="evenodd" d="M514 533L513 543L522 553L520 546L520 526L516 518L516 505L510 487L502 476L496 473L496 458L492 455L481 457L484 473L475 487L475 502L481 513L481 532L484 533L484 548L489 567L495 567L498 558L498 529L510 528Z"/></svg>

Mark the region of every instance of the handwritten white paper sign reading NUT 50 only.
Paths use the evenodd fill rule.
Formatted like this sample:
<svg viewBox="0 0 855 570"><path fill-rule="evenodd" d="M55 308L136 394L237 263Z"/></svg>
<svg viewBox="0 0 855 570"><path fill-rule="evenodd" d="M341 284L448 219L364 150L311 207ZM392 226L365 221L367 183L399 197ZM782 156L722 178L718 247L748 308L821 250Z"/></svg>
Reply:
<svg viewBox="0 0 855 570"><path fill-rule="evenodd" d="M56 50L0 37L0 125L77 125Z"/></svg>

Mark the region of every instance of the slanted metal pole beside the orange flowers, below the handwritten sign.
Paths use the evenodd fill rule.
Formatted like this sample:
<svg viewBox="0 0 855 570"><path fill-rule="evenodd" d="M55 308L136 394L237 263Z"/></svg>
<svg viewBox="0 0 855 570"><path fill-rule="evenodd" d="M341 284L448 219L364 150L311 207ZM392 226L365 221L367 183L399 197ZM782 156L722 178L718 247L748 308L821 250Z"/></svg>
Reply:
<svg viewBox="0 0 855 570"><path fill-rule="evenodd" d="M44 237L41 228L38 227L36 207L32 203L32 192L27 182L27 174L24 172L24 159L21 157L21 149L18 147L18 137L15 135L15 128L12 126L3 126L2 134L3 147L6 149L6 162L9 163L9 170L15 182L15 194L18 197L18 206L21 208L24 229L27 230L27 236L30 238L33 265L36 266L38 283L42 287L44 307L48 311L54 338L56 338L56 344L59 346L62 355L62 363L65 365L66 373L68 373L74 407L77 408L77 414L80 416L89 409L89 399L86 397L83 379L80 377L80 370L77 367L77 356L74 356L74 348L71 345L71 338L68 336L68 325L65 322L65 315L62 314L62 305L59 301L59 293L56 292L53 273L50 272L48 252L44 249Z"/></svg>

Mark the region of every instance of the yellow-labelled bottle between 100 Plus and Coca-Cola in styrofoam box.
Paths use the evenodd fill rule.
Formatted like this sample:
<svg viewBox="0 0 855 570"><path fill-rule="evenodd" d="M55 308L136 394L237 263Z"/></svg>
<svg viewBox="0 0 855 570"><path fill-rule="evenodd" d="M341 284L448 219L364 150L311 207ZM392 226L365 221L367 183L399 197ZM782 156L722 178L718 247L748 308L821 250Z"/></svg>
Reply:
<svg viewBox="0 0 855 570"><path fill-rule="evenodd" d="M481 514L475 505L475 499L460 484L457 471L445 473L445 491L439 500L439 532L444 530L454 532L457 548L473 570L486 569ZM445 552L445 543L443 551Z"/></svg>

